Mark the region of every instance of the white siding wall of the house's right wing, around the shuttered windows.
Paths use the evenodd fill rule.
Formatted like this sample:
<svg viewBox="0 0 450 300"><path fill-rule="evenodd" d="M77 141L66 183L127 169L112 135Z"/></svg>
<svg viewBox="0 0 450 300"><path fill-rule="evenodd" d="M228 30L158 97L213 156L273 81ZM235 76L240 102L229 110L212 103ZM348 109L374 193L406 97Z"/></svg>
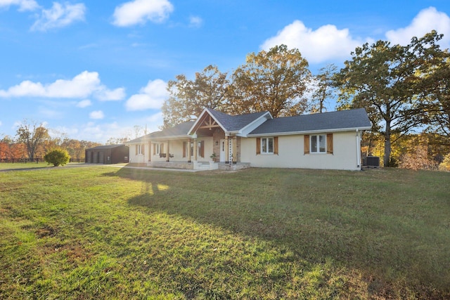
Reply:
<svg viewBox="0 0 450 300"><path fill-rule="evenodd" d="M326 134L326 133L314 133ZM359 170L356 162L356 132L333 133L333 155L304 154L304 136L278 136L278 155L256 154L256 138L243 138L241 162L252 167ZM358 150L356 150L358 149Z"/></svg>

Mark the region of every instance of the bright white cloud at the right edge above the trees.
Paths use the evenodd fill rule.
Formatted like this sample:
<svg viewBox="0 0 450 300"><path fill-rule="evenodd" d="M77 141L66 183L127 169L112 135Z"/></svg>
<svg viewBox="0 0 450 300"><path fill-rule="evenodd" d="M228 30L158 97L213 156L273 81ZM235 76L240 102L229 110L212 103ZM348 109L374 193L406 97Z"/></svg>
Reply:
<svg viewBox="0 0 450 300"><path fill-rule="evenodd" d="M437 11L434 7L420 11L408 26L386 32L386 37L393 44L407 45L411 42L412 37L423 37L432 30L436 30L438 34L444 34L439 44L448 48L450 46L449 15Z"/></svg>

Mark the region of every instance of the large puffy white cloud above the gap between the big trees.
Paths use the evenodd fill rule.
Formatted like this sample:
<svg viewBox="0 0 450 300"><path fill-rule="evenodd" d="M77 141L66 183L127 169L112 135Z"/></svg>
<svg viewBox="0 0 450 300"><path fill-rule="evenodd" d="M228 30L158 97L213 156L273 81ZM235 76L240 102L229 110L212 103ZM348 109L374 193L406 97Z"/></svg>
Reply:
<svg viewBox="0 0 450 300"><path fill-rule="evenodd" d="M311 30L302 21L295 20L275 37L266 39L261 48L269 50L273 46L285 44L289 48L298 48L309 63L323 63L326 60L348 58L350 52L364 42L353 39L348 29L338 30L335 25L323 25L317 30Z"/></svg>

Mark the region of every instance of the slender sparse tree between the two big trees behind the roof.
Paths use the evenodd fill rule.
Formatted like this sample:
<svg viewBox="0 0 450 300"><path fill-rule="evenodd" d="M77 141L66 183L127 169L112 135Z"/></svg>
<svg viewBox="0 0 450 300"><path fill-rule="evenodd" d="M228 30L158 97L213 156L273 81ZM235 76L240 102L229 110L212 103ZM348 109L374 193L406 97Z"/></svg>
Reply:
<svg viewBox="0 0 450 300"><path fill-rule="evenodd" d="M311 107L309 109L311 112L321 113L326 111L326 100L333 98L335 92L333 76L336 70L338 70L336 65L327 65L326 67L322 67L319 70L319 74L312 79L314 91L311 96Z"/></svg>

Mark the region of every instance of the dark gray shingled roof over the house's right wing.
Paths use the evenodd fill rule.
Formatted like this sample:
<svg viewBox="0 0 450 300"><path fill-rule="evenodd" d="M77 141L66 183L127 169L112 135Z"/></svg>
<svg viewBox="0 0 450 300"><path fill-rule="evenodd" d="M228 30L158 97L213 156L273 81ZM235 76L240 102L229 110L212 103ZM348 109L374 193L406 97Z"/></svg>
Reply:
<svg viewBox="0 0 450 300"><path fill-rule="evenodd" d="M308 131L333 131L338 129L370 129L371 122L366 110L341 110L338 112L324 112L321 114L300 115L269 119L249 136L270 133L290 133Z"/></svg>

